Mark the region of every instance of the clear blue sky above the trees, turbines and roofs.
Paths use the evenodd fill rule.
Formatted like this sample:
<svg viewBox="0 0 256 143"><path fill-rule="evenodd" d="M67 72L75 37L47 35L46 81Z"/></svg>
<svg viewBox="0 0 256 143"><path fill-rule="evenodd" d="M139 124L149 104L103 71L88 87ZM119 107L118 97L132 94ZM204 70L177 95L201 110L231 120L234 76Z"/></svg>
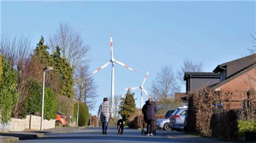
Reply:
<svg viewBox="0 0 256 143"><path fill-rule="evenodd" d="M255 1L1 1L1 33L32 38L36 47L41 35L47 39L60 23L80 32L91 51L94 71L114 58L136 72L115 65L115 95L126 87L139 87L148 70L144 88L164 65L180 70L184 59L202 62L211 72L217 65L245 56L252 47L255 30ZM94 75L98 99L111 96L111 65ZM183 87L182 92L185 89ZM140 107L140 90L136 106ZM143 100L147 97L144 95Z"/></svg>

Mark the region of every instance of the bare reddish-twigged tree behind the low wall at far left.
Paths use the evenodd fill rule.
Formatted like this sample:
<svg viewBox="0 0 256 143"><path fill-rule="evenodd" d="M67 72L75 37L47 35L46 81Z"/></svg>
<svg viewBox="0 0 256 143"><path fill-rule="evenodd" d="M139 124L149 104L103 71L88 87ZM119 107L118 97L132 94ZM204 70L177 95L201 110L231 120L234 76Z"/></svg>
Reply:
<svg viewBox="0 0 256 143"><path fill-rule="evenodd" d="M27 81L29 77L37 75L40 71L38 64L31 64L30 55L33 53L30 36L14 36L2 34L0 42L0 53L7 59L12 59L13 68L18 71L17 92L20 94L17 105L13 109L13 116L19 117L23 111L27 99ZM33 62L34 63L34 62ZM29 65L33 65L30 67Z"/></svg>

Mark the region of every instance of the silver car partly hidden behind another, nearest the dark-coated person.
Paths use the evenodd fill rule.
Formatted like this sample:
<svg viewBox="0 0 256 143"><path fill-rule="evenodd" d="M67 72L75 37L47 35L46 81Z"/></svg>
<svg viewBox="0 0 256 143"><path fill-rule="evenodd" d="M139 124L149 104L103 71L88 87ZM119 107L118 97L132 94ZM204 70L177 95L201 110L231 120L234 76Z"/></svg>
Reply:
<svg viewBox="0 0 256 143"><path fill-rule="evenodd" d="M170 116L172 115L173 111L175 110L168 110L164 114L164 119L158 119L156 126L158 129L164 129L164 130L171 130L169 126Z"/></svg>

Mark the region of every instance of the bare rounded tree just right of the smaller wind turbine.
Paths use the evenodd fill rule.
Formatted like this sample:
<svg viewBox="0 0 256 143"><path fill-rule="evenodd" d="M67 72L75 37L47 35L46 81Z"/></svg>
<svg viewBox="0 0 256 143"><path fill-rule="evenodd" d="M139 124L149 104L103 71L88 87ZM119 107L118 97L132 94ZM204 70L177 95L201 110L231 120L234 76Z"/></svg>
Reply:
<svg viewBox="0 0 256 143"><path fill-rule="evenodd" d="M176 92L180 92L180 85L175 79L172 67L165 65L158 72L157 77L151 85L153 99L158 101L167 97L173 98Z"/></svg>

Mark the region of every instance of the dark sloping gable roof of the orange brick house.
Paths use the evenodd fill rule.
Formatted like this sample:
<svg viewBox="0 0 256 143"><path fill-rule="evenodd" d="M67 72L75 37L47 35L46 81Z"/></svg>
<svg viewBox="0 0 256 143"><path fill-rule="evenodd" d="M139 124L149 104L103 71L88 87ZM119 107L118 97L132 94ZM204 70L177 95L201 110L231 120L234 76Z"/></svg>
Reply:
<svg viewBox="0 0 256 143"><path fill-rule="evenodd" d="M240 59L235 59L230 62L225 62L223 64L217 65L217 67L214 69L214 73L226 70L226 79L232 77L233 75L236 75L242 70L245 70L245 68L250 67L251 65L254 65L256 63L256 53L242 57Z"/></svg>

